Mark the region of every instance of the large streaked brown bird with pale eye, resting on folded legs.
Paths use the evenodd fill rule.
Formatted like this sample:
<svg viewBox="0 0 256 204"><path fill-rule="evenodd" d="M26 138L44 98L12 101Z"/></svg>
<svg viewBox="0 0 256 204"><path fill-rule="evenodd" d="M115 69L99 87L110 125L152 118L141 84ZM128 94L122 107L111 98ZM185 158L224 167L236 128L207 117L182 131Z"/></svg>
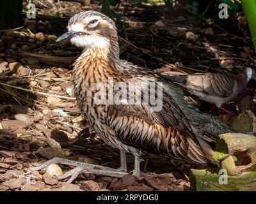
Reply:
<svg viewBox="0 0 256 204"><path fill-rule="evenodd" d="M72 71L77 102L97 135L120 150L121 165L118 170L94 165L95 169L93 164L54 158L32 170L61 163L77 167L59 179L71 175L72 180L83 171L122 176L127 171L127 152L134 155L133 175L136 177L140 177L140 157L145 152L163 154L173 161L207 164L212 159L212 143L220 129L232 131L220 121L200 113L194 106L188 106L179 87L149 69L120 60L115 23L106 15L97 11L74 15L68 21L68 32L57 39L62 40L70 40L83 48ZM114 89L109 89L109 81ZM108 89L101 92L106 84ZM156 87L147 89L152 84ZM120 93L120 87L129 90L125 92L125 88ZM141 94L148 94L148 103L141 102ZM158 94L161 100L156 105L152 98ZM135 98L136 103L130 103L130 98L125 98L127 95Z"/></svg>

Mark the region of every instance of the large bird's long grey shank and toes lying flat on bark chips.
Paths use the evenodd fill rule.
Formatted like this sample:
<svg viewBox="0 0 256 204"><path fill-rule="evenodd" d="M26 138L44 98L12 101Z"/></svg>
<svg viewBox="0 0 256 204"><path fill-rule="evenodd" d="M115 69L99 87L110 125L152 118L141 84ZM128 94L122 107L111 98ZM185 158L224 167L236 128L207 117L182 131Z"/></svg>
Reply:
<svg viewBox="0 0 256 204"><path fill-rule="evenodd" d="M47 168L47 166L51 164L66 164L66 165L76 166L76 168L67 171L63 175L59 175L55 177L56 179L60 179L60 180L67 179L68 177L70 177L70 179L68 180L69 183L72 182L74 179L76 179L79 173L92 173L92 174L106 175L109 177L119 177L119 178L122 178L125 175L127 175L127 173L124 171L116 170L106 166L82 163L78 161L72 161L69 159L63 159L60 157L54 157L53 159L50 159L49 161L43 164L34 164L33 166L30 167L30 170L40 171L42 169Z"/></svg>

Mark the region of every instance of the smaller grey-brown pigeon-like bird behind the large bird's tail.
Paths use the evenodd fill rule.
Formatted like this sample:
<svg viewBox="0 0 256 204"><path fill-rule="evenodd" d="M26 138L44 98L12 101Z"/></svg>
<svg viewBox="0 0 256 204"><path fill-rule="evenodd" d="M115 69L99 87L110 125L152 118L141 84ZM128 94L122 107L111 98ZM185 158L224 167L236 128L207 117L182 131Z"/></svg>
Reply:
<svg viewBox="0 0 256 204"><path fill-rule="evenodd" d="M248 82L256 80L255 70L252 68L237 68L234 73L205 73L195 75L170 76L164 78L180 84L198 98L213 103L221 110L223 103L231 101L244 90Z"/></svg>

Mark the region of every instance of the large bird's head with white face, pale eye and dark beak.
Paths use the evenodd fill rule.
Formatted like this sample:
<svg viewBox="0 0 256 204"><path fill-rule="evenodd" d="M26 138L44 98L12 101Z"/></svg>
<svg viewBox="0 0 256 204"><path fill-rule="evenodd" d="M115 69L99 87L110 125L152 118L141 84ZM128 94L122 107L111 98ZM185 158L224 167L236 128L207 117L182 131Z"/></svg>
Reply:
<svg viewBox="0 0 256 204"><path fill-rule="evenodd" d="M98 11L77 13L68 21L68 31L56 41L70 40L73 45L84 50L115 50L119 55L118 36L115 22Z"/></svg>

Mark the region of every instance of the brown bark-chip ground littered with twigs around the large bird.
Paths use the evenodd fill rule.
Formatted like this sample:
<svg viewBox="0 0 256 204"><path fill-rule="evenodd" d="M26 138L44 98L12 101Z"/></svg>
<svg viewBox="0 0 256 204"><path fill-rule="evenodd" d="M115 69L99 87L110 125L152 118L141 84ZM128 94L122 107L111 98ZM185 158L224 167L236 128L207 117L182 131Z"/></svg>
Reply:
<svg viewBox="0 0 256 204"><path fill-rule="evenodd" d="M189 170L152 154L143 157L140 179L83 173L67 184L53 179L48 171L29 171L31 164L54 156L119 166L118 150L95 135L74 99L70 72L81 50L70 43L56 43L56 36L66 31L68 18L79 11L100 10L99 2L92 1L90 6L60 2L61 7L58 3L54 7L49 1L35 1L35 19L24 15L23 28L0 31L0 191L189 191ZM126 2L113 7L113 12L123 17L118 24L120 57L140 66L183 73L255 67L243 13L239 20L236 15L220 20L200 18L182 5L168 10L159 4ZM211 105L186 95L190 103L205 112L211 110ZM245 96L256 101L255 82L224 107L239 114ZM251 110L255 113L255 107ZM230 124L231 116L211 113ZM127 163L132 170L131 155Z"/></svg>

